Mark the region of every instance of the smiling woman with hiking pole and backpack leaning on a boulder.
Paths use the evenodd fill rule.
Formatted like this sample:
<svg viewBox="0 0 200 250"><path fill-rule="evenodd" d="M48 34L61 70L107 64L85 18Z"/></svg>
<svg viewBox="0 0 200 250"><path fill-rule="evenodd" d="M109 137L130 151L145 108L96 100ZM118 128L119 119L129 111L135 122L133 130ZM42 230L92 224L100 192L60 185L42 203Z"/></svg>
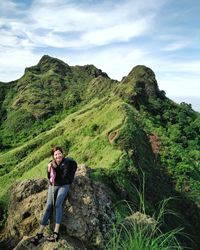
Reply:
<svg viewBox="0 0 200 250"><path fill-rule="evenodd" d="M77 169L77 163L69 157L63 156L63 150L60 147L54 147L51 150L53 161L48 164L48 197L47 206L43 215L39 232L31 240L35 245L44 237L43 231L50 218L52 208L55 204L55 228L53 235L47 238L48 241L55 242L59 239L59 228L62 219L62 205L67 193L69 192L69 186L73 182L74 175Z"/></svg>

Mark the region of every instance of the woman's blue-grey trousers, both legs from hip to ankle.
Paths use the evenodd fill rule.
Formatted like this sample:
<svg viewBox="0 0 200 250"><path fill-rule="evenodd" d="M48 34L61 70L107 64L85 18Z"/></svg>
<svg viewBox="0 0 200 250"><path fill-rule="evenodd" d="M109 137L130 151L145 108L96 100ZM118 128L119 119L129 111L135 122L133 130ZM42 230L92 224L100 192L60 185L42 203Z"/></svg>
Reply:
<svg viewBox="0 0 200 250"><path fill-rule="evenodd" d="M54 186L54 201L55 201L54 204L55 204L55 210L56 210L56 221L55 221L56 224L61 223L62 205L63 205L63 201L65 197L67 196L68 191L69 191L69 185ZM46 210L43 215L41 225L46 226L48 219L50 218L52 208L53 208L52 186L49 185Z"/></svg>

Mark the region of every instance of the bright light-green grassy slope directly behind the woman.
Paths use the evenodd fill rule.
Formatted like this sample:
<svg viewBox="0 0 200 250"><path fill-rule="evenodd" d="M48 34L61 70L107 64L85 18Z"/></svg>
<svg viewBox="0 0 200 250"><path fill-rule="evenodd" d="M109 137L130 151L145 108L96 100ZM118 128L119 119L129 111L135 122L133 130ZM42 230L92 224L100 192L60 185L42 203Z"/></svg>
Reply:
<svg viewBox="0 0 200 250"><path fill-rule="evenodd" d="M65 147L66 143L70 143L69 155L78 163L95 168L112 166L121 151L109 143L108 133L123 124L121 104L122 101L115 97L93 99L78 112L61 120L53 129L2 153L0 162L3 166L7 164L10 172L0 177L0 196L19 178L45 176L49 150L53 145Z"/></svg>

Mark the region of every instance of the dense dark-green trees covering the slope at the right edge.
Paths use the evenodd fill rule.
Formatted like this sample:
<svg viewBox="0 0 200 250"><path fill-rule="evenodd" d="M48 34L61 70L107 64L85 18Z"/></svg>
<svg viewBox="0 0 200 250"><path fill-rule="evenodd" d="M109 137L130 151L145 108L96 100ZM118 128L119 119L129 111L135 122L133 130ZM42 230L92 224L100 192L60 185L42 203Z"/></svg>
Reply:
<svg viewBox="0 0 200 250"><path fill-rule="evenodd" d="M155 131L161 141L161 162L176 183L177 191L193 190L194 182L199 182L196 165L200 150L200 115L191 109L191 105L176 105L170 100L159 100L160 117L152 116L158 112L156 105L143 112L143 121L147 132ZM194 174L195 173L195 174ZM195 181L191 180L195 178ZM187 184L186 184L187 183ZM197 197L195 198L197 199Z"/></svg>

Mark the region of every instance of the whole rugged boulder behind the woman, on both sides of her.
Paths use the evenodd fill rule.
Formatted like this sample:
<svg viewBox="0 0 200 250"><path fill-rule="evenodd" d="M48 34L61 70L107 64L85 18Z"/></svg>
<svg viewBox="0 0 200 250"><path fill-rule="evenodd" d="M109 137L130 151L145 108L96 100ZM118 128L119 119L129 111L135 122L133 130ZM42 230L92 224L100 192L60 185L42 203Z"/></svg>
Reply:
<svg viewBox="0 0 200 250"><path fill-rule="evenodd" d="M55 243L64 244L63 249L68 249L66 246L70 240L69 249L80 244L81 249L100 249L115 220L105 187L92 181L89 172L86 166L78 166L68 198L63 204L61 239L60 243ZM44 213L47 188L47 179L26 180L11 187L11 204L0 248L6 246L6 249L15 247L22 250L30 244L30 237L38 231ZM48 249L47 244L50 243L43 240L37 249ZM54 248L50 246L50 249Z"/></svg>

